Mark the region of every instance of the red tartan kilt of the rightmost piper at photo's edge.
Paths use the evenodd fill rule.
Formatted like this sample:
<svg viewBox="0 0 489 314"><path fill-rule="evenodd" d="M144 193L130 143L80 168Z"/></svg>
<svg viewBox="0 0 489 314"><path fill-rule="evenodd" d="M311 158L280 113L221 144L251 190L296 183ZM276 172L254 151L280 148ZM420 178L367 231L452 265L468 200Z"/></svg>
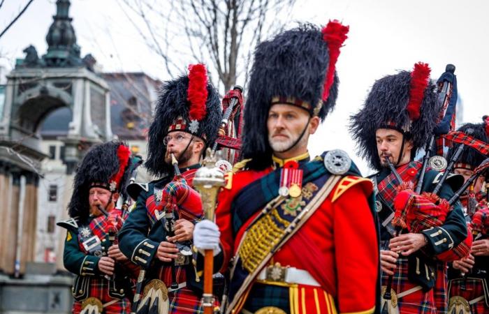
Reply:
<svg viewBox="0 0 489 314"><path fill-rule="evenodd" d="M462 282L464 280L465 279L463 278L455 278L449 281L448 284L449 297L460 296L466 299L467 301L471 301L484 294L484 286L481 278L467 277L467 280L465 281L465 289L462 289ZM470 306L470 313L472 314L489 313L489 307L486 305L486 300L482 299L481 301L472 304Z"/></svg>

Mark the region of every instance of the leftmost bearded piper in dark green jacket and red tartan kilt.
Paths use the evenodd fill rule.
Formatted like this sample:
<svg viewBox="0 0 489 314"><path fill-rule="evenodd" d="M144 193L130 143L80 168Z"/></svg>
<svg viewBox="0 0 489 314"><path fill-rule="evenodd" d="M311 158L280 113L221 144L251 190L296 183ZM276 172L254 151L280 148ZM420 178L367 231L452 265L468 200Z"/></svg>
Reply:
<svg viewBox="0 0 489 314"><path fill-rule="evenodd" d="M73 313L130 313L136 265L115 241L126 219L117 209L130 168L129 148L119 142L98 144L83 158L75 174L68 204L64 267L76 275Z"/></svg>

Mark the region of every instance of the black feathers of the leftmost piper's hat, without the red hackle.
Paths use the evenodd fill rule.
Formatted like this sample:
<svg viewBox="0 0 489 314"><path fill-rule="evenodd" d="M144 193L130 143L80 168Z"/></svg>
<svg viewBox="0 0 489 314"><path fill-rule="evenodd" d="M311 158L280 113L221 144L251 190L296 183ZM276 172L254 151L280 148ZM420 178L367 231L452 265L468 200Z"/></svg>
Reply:
<svg viewBox="0 0 489 314"><path fill-rule="evenodd" d="M89 216L89 190L93 183L108 184L109 180L119 171L119 158L117 148L123 142L105 142L96 144L83 158L76 170L73 181L73 194L68 204L68 215L72 218L78 217L81 222ZM126 166L124 175L119 184L119 193L125 193L129 184L129 170L131 169L131 158Z"/></svg>

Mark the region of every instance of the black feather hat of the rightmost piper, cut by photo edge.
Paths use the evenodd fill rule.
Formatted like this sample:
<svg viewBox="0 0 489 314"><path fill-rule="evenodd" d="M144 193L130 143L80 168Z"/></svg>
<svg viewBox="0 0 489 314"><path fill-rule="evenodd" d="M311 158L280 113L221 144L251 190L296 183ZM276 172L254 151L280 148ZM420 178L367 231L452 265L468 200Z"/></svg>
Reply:
<svg viewBox="0 0 489 314"><path fill-rule="evenodd" d="M472 128L473 133L470 135L471 137L474 137L476 140L489 143L489 117L484 116L482 117L482 120L483 121L481 124L464 124L458 128L458 131L466 133L469 128ZM455 154L457 147L458 145L452 145L452 147L448 149L448 154L446 156L447 160L450 160L453 154ZM460 155L457 164L455 164L455 168L466 167L467 169L475 169L481 165L485 159L486 156L481 154L476 149L465 146L462 151L462 155Z"/></svg>

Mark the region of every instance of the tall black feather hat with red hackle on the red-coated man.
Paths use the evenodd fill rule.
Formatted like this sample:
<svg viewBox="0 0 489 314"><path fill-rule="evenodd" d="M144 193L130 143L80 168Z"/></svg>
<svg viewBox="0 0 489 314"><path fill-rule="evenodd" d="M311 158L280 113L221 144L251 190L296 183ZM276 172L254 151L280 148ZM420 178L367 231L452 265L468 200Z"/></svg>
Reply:
<svg viewBox="0 0 489 314"><path fill-rule="evenodd" d="M323 120L333 110L338 92L335 63L348 27L329 22L322 30L312 24L279 33L254 52L242 131L242 159L263 169L272 163L267 118L275 103L307 110Z"/></svg>

